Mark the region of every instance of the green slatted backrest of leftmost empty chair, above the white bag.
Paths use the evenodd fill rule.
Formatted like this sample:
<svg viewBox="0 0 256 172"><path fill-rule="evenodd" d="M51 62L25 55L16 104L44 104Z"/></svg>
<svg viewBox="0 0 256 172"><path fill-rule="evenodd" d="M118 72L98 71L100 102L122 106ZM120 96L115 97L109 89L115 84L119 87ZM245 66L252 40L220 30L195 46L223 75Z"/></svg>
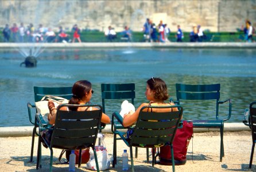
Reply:
<svg viewBox="0 0 256 172"><path fill-rule="evenodd" d="M40 101L46 95L59 96L71 99L72 87L34 87L34 101Z"/></svg>

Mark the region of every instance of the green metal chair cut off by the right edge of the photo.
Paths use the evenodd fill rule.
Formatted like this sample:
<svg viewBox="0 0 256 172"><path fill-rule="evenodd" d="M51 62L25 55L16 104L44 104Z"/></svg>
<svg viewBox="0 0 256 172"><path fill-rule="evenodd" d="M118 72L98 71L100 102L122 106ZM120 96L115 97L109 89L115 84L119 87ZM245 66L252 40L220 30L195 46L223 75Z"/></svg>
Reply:
<svg viewBox="0 0 256 172"><path fill-rule="evenodd" d="M253 139L253 145L251 146L251 157L249 169L251 169L253 163L254 147L256 143L256 101L250 103L250 109L246 109L243 123L251 128L251 138Z"/></svg>

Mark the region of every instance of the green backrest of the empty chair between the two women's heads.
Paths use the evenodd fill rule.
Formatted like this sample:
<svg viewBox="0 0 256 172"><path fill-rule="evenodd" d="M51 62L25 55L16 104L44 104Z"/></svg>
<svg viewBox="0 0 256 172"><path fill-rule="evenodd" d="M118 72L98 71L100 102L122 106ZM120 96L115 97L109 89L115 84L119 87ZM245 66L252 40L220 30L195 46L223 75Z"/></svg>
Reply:
<svg viewBox="0 0 256 172"><path fill-rule="evenodd" d="M129 99L134 104L135 84L102 84L102 107L105 113L106 99ZM120 104L121 105L121 104Z"/></svg>

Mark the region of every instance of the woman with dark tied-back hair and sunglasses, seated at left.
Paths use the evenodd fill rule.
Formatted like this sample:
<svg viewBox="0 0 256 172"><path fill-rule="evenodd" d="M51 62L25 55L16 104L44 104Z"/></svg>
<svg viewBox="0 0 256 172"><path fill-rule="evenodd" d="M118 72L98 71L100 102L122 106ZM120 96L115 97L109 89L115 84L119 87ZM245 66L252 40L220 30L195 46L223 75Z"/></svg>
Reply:
<svg viewBox="0 0 256 172"><path fill-rule="evenodd" d="M75 84L73 84L72 93L73 93L73 96L69 100L68 104L86 104L86 103L90 103L92 93L94 93L94 91L92 90L92 85L89 81L80 80L80 81L77 81ZM57 112L55 108L55 104L52 101L48 101L48 108L50 111L48 116L49 124L54 124L56 119L56 112ZM87 109L86 107L78 107L78 108L75 107L75 108L69 108L69 109L67 107L62 107L60 108L60 110L92 111L92 110L96 110L96 107L90 107L89 109ZM108 124L110 123L110 118L106 114L102 113L101 122Z"/></svg>

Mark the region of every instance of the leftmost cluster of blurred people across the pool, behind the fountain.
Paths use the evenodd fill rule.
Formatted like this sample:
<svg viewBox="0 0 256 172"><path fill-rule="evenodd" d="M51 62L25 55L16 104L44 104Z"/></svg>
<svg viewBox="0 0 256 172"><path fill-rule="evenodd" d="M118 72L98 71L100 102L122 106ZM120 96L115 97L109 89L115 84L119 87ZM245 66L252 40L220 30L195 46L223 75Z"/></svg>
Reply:
<svg viewBox="0 0 256 172"><path fill-rule="evenodd" d="M53 32L52 28L45 28L42 24L35 28L33 24L29 24L26 28L23 23L18 26L13 24L5 25L2 31L3 42L82 42L80 39L80 29L75 24L72 28L73 40L71 36L65 32L62 26L59 26L57 34Z"/></svg>

